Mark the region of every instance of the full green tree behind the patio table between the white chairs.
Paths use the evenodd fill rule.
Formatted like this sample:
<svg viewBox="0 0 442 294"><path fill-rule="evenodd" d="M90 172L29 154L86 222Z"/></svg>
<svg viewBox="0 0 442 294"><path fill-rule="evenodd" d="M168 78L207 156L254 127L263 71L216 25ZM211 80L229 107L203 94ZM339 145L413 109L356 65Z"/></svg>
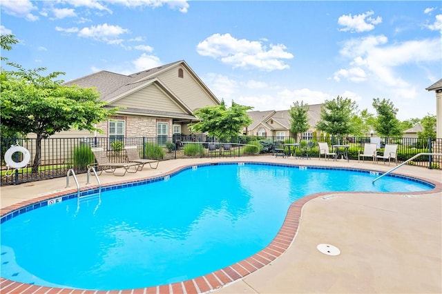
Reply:
<svg viewBox="0 0 442 294"><path fill-rule="evenodd" d="M333 100L326 100L320 109L320 120L316 128L336 135L339 142L341 136L353 133L352 116L356 108L356 102L349 98L338 96Z"/></svg>

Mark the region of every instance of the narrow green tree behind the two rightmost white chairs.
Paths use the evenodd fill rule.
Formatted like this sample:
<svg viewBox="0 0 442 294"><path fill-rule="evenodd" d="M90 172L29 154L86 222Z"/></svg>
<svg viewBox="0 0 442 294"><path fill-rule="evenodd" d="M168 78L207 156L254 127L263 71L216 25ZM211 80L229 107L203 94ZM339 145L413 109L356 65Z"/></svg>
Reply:
<svg viewBox="0 0 442 294"><path fill-rule="evenodd" d="M402 135L401 124L396 118L398 108L390 99L373 99L373 107L376 109L376 132L385 137L398 137Z"/></svg>

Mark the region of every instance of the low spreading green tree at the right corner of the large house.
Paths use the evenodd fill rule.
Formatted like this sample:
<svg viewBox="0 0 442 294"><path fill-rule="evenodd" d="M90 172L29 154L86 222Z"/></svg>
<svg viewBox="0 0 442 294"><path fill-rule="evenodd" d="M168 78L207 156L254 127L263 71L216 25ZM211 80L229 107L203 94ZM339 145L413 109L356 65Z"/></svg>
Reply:
<svg viewBox="0 0 442 294"><path fill-rule="evenodd" d="M244 126L251 124L251 118L247 115L250 106L242 106L232 101L232 106L227 108L224 100L220 105L207 106L195 110L194 115L198 122L190 124L191 130L200 133L209 133L209 136L235 137Z"/></svg>

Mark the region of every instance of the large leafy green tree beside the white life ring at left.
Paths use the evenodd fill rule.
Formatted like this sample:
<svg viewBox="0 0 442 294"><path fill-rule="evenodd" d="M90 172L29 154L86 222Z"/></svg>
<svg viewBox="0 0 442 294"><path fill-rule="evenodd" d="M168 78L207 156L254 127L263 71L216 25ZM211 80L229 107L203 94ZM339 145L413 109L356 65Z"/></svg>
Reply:
<svg viewBox="0 0 442 294"><path fill-rule="evenodd" d="M1 72L1 124L23 135L37 134L32 173L38 171L41 139L71 128L101 132L94 125L117 110L105 108L93 88L62 86L63 81L55 80L62 72L43 76L39 72L46 68L12 66L18 70Z"/></svg>

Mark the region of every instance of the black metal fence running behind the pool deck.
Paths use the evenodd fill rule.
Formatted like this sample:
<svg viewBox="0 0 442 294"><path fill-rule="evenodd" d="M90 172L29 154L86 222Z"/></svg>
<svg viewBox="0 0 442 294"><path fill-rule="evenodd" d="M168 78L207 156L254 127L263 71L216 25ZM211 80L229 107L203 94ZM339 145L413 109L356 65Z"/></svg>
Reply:
<svg viewBox="0 0 442 294"><path fill-rule="evenodd" d="M318 157L318 141L327 141L334 144L349 145L349 159L358 159L358 152L363 150L364 144L371 141L370 137L314 137L309 139L295 139L292 137L258 137L240 136L229 139L207 137L206 135L174 135L173 137L81 137L57 138L41 140L41 147L37 148L36 139L7 139L1 138L1 185L34 182L41 179L65 177L68 170L73 169L76 174L86 173L88 164L93 164L95 158L91 146L102 146L113 162L127 161L124 146L137 146L140 157L147 159L180 159L202 157L243 157L251 155L273 155L276 147L287 143L298 143L294 155L302 157ZM314 142L307 147L308 142ZM30 153L30 161L23 168L12 169L6 165L4 155L11 147L18 144ZM442 153L442 139L417 138L382 138L379 141L379 152L385 144L398 144L398 162L410 159L419 153ZM12 154L12 160L23 160L22 153ZM425 168L442 168L440 156L420 156L408 164Z"/></svg>

